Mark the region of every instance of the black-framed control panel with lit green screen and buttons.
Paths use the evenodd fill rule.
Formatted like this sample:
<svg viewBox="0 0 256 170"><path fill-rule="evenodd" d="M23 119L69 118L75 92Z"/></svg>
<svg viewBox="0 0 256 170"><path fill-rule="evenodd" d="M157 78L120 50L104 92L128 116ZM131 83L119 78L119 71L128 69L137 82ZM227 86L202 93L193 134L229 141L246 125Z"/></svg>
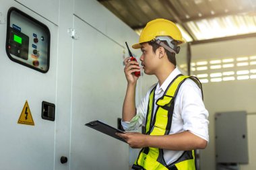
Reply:
<svg viewBox="0 0 256 170"><path fill-rule="evenodd" d="M50 65L50 37L47 26L15 7L9 9L6 52L11 60L46 73Z"/></svg>

